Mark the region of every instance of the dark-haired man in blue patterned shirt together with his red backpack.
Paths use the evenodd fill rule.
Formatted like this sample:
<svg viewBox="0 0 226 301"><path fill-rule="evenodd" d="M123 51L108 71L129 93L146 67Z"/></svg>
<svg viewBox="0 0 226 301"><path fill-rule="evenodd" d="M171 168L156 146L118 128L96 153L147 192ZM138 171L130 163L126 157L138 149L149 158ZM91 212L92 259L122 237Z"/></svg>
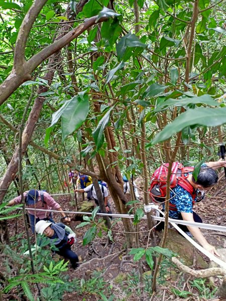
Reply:
<svg viewBox="0 0 226 301"><path fill-rule="evenodd" d="M193 167L183 167L179 162L174 162L170 178L169 217L172 219L202 223L201 218L193 211L193 205L204 198L205 191L210 190L218 181L216 169L226 167L222 159L216 162L207 162L201 165L197 180L192 176ZM151 178L149 189L150 197L155 203L162 203L165 209L166 178L168 164L163 164L155 171ZM210 245L200 229L192 226L178 226L187 234L192 235L201 246L212 254L219 256L215 247ZM164 229L164 222L156 226L156 230Z"/></svg>

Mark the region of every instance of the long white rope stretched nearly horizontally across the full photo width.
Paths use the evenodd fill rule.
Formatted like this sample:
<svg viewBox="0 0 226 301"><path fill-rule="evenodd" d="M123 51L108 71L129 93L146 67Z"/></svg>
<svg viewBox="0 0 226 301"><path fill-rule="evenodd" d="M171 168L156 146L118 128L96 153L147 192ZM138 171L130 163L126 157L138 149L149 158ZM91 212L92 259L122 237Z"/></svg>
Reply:
<svg viewBox="0 0 226 301"><path fill-rule="evenodd" d="M6 208L11 208L9 206L6 206ZM21 207L16 207L15 210L20 209L22 210ZM34 210L34 211L48 211L48 212L56 212L56 213L61 213L64 212L66 214L68 213L73 213L73 214L82 214L82 215L91 215L91 212L79 212L79 211L58 211L58 210L46 210L46 209L35 209L35 208L25 208L25 210ZM134 215L131 214L108 214L108 213L97 213L96 215L99 216L112 216L112 217L121 217L121 218L134 218ZM152 218L156 221L164 221L164 217L157 217L153 216ZM142 219L147 219L147 216L145 215ZM205 223L196 223L196 222L188 222L188 221L183 221L183 220L177 220L177 219L172 219L169 218L169 222L180 224L180 225L185 225L185 226L192 226L192 227L197 227L197 228L202 228L202 229L208 229L208 230L213 230L213 231L221 231L221 232L226 232L226 227L224 226L218 226L218 225L213 225L213 224L205 224Z"/></svg>

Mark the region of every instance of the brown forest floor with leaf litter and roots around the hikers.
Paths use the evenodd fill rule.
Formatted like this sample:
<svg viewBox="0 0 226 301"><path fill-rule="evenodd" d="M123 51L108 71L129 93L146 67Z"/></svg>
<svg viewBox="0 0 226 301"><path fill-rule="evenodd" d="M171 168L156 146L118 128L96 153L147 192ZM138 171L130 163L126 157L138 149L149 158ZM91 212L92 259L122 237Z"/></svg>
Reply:
<svg viewBox="0 0 226 301"><path fill-rule="evenodd" d="M139 186L138 186L139 187ZM208 192L208 195L205 196L205 199L196 204L194 211L198 213L204 223L216 224L221 226L226 226L226 191L225 191L225 178L224 174L220 177L218 184ZM75 206L74 202L70 200L70 197L60 197L56 199L57 202L61 205L63 210L74 211ZM111 197L109 197L109 202L113 213L116 213L116 208L112 202ZM71 215L72 217L72 215ZM58 216L56 216L55 221ZM20 221L22 222L22 221ZM18 229L20 229L20 222L18 224ZM74 281L75 277L78 279L84 278L84 280L78 280L76 282L76 287L73 291L65 291L63 300L65 301L96 301L104 300L104 297L101 297L99 292L104 292L106 296L113 295L111 299L106 298L105 300L125 300L125 301L146 301L146 300L197 300L197 301L206 301L210 299L211 289L207 289L207 285L199 282L197 286L201 285L202 297L200 297L197 287L195 288L189 284L190 277L188 275L182 274L181 272L176 277L164 276L162 281L158 283L158 290L154 296L151 296L149 293L143 293L141 297L141 292L138 294L137 291L140 291L139 278L138 278L138 264L133 261L133 256L128 255L125 252L126 249L126 236L123 232L124 227L122 221L118 221L112 228L112 235L114 237L114 242L109 242L106 235L103 235L101 238L98 236L93 239L91 243L86 246L82 245L83 237L85 232L88 230L88 226L79 227L76 229L76 226L80 222L71 222L72 229L76 232L77 242L73 245L72 249L78 254L79 261L81 262L79 268L76 270L69 268L65 274L68 276L68 281ZM15 235L15 222L9 221L10 232ZM139 235L140 247L146 247L148 241L148 232L146 220L142 220L139 224ZM143 232L142 232L143 231ZM216 248L226 248L226 234L225 232L214 232L212 230L201 230L207 241L214 245ZM157 242L159 238L156 236ZM208 258L202 256L205 261L208 261ZM166 267L167 268L167 267ZM150 269L145 262L142 261L142 269L145 274L150 277ZM193 266L193 269L198 269L197 266ZM94 272L94 274L93 274ZM117 281L113 281L115 277L120 273L120 276L117 277ZM136 281L133 280L136 278ZM148 278L148 277L147 277ZM83 281L83 282L82 282ZM150 283L146 280L146 287L151 286ZM74 282L73 282L74 283ZM180 285L179 285L180 284ZM215 279L215 284L219 284L219 280ZM78 288L80 286L80 288ZM191 295L187 295L185 298L180 298L176 294L172 293L172 288L179 290L190 291ZM208 293L207 293L208 292ZM140 296L138 296L140 295ZM198 296L199 295L199 296ZM219 299L215 299L219 300Z"/></svg>

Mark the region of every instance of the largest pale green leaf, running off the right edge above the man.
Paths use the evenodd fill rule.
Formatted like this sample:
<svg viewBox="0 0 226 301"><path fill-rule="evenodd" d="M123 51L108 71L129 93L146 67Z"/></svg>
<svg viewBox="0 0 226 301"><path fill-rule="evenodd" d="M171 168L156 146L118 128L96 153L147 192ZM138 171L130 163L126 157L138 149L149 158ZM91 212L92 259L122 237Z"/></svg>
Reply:
<svg viewBox="0 0 226 301"><path fill-rule="evenodd" d="M169 139L174 133L190 125L217 126L226 123L226 107L223 108L195 108L180 114L173 122L169 123L155 138L146 145L154 145Z"/></svg>

